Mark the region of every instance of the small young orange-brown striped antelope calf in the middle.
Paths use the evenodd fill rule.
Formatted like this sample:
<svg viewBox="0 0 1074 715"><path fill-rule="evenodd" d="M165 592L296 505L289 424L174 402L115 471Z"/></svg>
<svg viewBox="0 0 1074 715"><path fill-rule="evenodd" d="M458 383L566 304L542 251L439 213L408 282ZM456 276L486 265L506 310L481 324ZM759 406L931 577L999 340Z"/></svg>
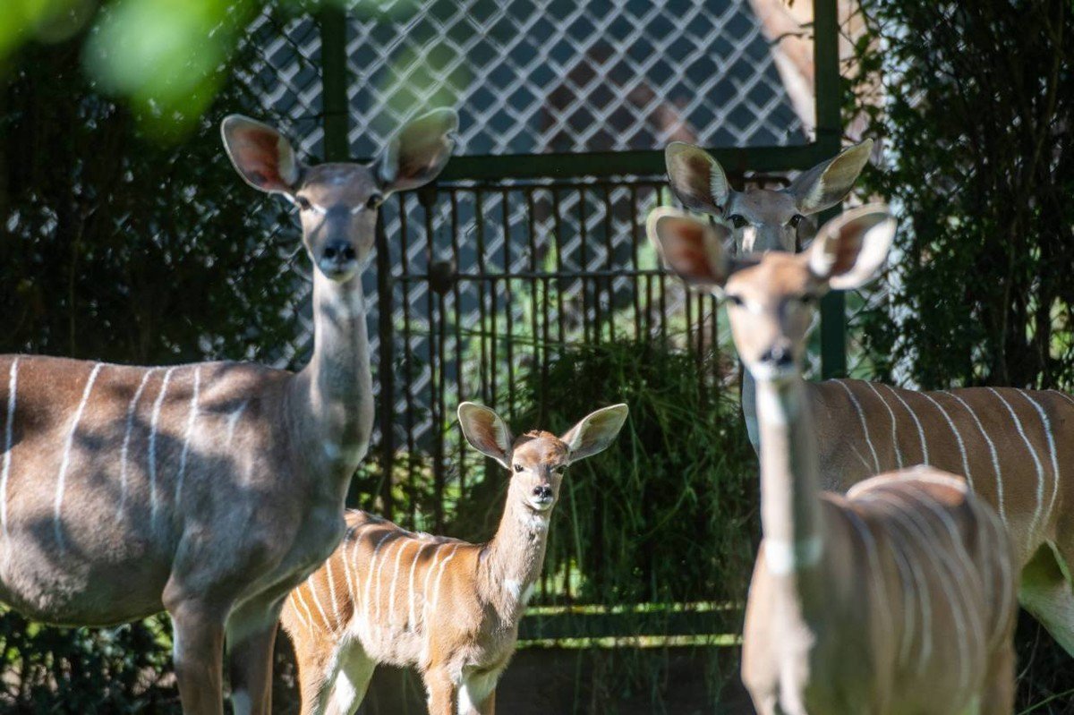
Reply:
<svg viewBox="0 0 1074 715"><path fill-rule="evenodd" d="M489 408L460 405L467 441L511 477L496 536L471 544L349 512L339 549L284 605L303 715L353 713L377 663L417 667L431 715L491 715L540 577L563 470L605 450L626 414L614 405L562 437L514 439Z"/></svg>

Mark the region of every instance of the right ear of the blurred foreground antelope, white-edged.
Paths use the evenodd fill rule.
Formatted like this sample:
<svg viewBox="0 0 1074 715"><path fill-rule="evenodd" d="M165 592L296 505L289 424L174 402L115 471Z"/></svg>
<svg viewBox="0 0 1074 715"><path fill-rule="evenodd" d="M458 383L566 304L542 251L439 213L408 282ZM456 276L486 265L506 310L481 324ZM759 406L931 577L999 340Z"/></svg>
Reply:
<svg viewBox="0 0 1074 715"><path fill-rule="evenodd" d="M810 271L831 288L868 282L887 258L896 221L883 204L851 209L821 227L807 251Z"/></svg>

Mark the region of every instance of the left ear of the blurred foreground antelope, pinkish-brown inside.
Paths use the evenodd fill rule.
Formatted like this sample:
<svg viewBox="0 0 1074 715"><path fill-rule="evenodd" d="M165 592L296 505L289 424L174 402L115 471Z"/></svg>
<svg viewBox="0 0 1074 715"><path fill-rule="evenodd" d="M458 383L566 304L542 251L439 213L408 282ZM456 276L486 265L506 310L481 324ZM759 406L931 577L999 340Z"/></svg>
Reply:
<svg viewBox="0 0 1074 715"><path fill-rule="evenodd" d="M649 214L645 231L664 262L691 286L709 290L723 288L731 273L724 242L731 232L724 225L687 216L669 206Z"/></svg>

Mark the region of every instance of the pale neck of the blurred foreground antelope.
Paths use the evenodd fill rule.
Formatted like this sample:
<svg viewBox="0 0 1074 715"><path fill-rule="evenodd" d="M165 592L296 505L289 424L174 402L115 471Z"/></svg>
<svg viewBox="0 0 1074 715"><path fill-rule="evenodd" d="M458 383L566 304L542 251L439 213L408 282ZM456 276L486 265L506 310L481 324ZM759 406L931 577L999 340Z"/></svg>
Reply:
<svg viewBox="0 0 1074 715"><path fill-rule="evenodd" d="M824 546L816 437L800 377L756 391L765 555L770 571L790 573L815 565Z"/></svg>

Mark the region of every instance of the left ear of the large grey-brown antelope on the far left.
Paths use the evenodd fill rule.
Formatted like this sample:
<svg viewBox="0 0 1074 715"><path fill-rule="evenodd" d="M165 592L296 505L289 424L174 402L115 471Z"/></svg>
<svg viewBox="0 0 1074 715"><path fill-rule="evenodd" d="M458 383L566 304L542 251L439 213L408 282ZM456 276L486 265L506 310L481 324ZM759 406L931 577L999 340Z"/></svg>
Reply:
<svg viewBox="0 0 1074 715"><path fill-rule="evenodd" d="M238 175L255 189L290 194L302 175L291 143L260 121L232 114L220 122L223 148Z"/></svg>

